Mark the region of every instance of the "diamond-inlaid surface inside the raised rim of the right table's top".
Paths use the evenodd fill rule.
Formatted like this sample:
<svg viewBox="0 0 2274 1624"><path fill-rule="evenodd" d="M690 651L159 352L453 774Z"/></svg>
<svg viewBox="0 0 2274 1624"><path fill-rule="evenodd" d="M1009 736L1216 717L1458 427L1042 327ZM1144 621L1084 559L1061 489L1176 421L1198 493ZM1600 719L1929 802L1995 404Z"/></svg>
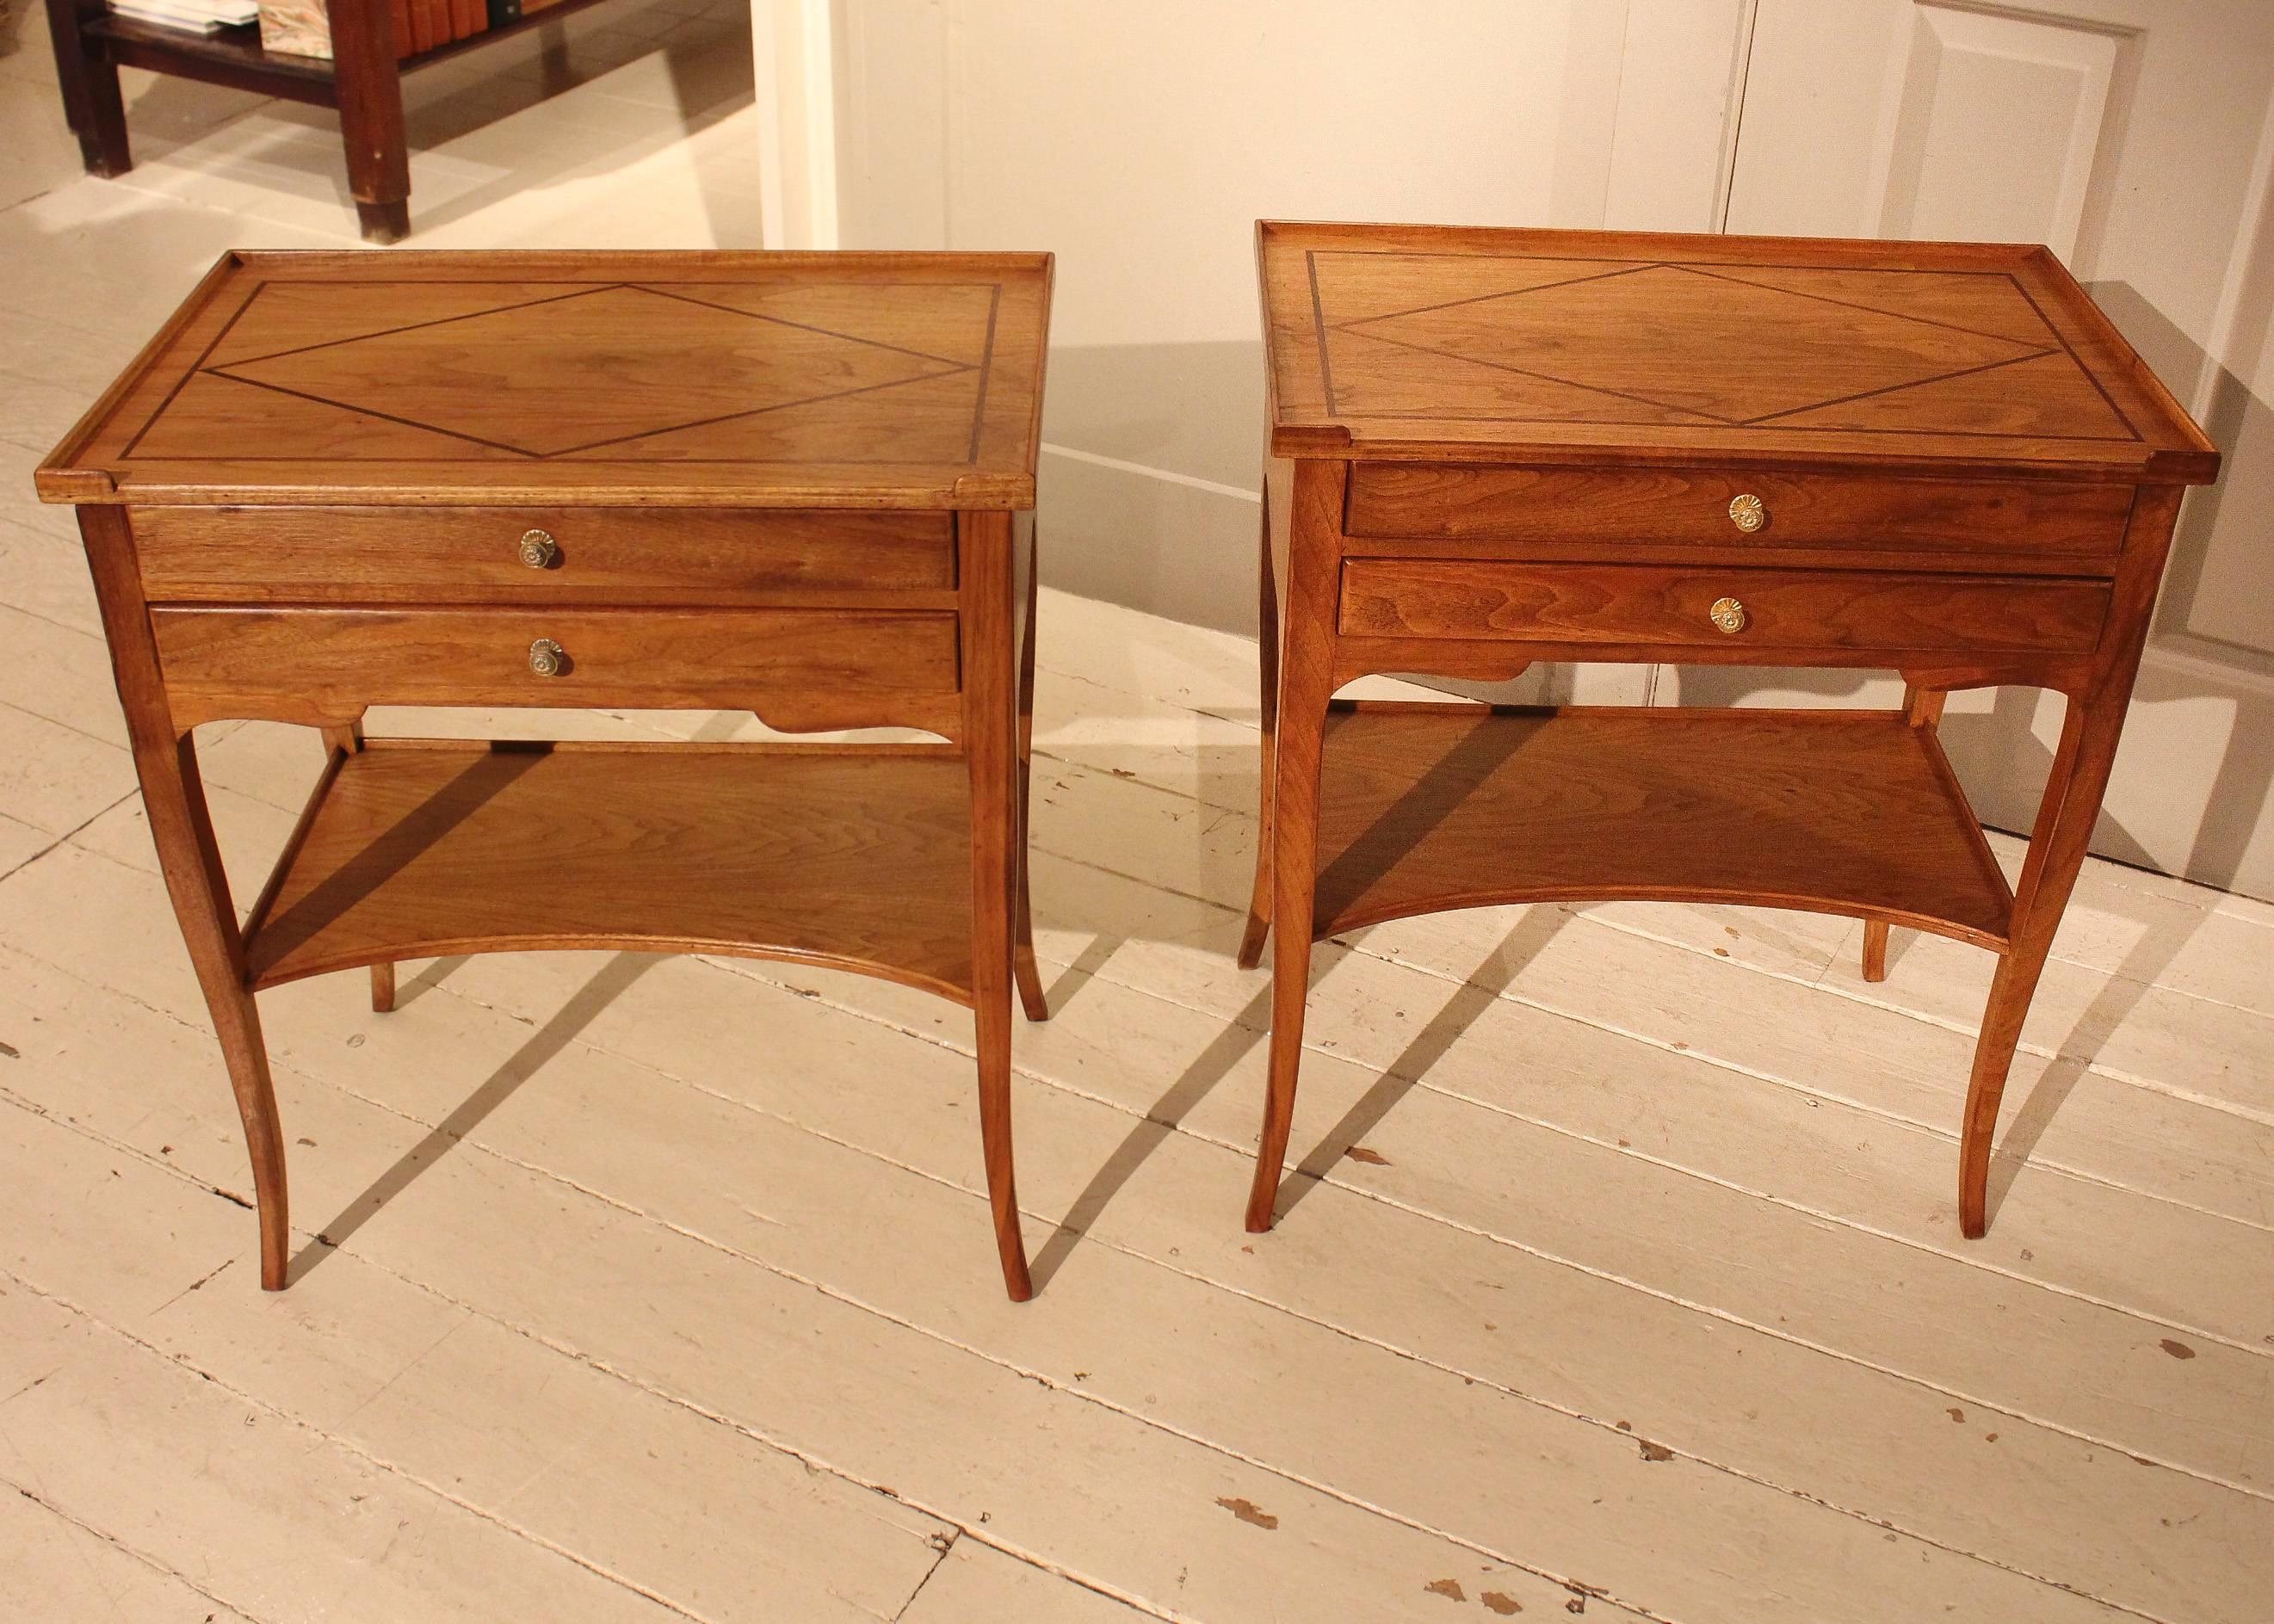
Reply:
<svg viewBox="0 0 2274 1624"><path fill-rule="evenodd" d="M1931 432L1962 403L1990 432L2135 439L1997 273L1319 250L1312 284L1342 416Z"/></svg>

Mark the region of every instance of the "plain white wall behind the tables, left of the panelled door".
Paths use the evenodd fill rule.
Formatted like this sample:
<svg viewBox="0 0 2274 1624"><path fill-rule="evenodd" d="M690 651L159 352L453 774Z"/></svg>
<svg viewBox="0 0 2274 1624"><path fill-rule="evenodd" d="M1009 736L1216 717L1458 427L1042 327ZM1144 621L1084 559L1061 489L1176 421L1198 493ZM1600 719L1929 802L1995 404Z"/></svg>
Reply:
<svg viewBox="0 0 2274 1624"><path fill-rule="evenodd" d="M1044 578L1253 630L1255 221L1706 227L1737 14L839 0L839 241L1055 250Z"/></svg>

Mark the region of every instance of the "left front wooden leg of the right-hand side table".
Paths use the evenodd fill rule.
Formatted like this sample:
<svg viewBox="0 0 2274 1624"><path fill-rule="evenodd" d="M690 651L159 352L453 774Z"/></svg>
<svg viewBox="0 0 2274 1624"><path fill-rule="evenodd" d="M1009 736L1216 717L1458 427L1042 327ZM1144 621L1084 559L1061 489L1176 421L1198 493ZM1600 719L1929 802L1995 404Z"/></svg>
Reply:
<svg viewBox="0 0 2274 1624"><path fill-rule="evenodd" d="M1248 1187L1248 1231L1271 1228L1310 1001L1310 928L1319 892L1319 762L1335 696L1335 594L1346 464L1298 462L1287 514L1278 701L1271 748L1271 1080Z"/></svg>

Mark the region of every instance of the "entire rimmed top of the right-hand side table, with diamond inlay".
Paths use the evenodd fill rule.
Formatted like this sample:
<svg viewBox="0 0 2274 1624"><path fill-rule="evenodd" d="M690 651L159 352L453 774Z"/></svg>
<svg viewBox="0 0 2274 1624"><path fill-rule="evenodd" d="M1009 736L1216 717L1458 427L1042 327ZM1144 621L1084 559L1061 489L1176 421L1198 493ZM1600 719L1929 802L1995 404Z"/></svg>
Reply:
<svg viewBox="0 0 2274 1624"><path fill-rule="evenodd" d="M2217 473L2047 248L1267 221L1258 257L1283 457Z"/></svg>

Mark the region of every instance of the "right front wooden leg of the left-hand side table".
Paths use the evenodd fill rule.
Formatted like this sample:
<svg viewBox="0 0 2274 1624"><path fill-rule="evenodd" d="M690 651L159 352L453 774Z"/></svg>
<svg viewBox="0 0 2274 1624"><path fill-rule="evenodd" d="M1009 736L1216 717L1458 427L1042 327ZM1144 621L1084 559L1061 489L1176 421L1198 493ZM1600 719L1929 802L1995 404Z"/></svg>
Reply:
<svg viewBox="0 0 2274 1624"><path fill-rule="evenodd" d="M1019 837L1019 678L1010 514L962 514L964 755L971 760L971 1010L978 1028L980 1149L1003 1287L1035 1294L1019 1235L1010 1133L1012 842Z"/></svg>

